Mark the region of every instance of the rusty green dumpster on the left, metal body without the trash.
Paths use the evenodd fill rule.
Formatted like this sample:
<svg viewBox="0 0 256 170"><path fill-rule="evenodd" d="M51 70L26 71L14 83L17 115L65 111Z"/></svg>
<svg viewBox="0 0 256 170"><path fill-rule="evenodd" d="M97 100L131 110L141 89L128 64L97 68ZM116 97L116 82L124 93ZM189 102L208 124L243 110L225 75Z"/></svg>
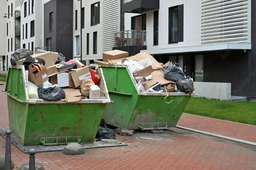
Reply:
<svg viewBox="0 0 256 170"><path fill-rule="evenodd" d="M9 125L15 137L23 145L66 145L70 142L93 142L102 115L108 103L108 95L102 70L100 88L105 99L82 99L78 103L29 99L25 67L9 67L6 95Z"/></svg>

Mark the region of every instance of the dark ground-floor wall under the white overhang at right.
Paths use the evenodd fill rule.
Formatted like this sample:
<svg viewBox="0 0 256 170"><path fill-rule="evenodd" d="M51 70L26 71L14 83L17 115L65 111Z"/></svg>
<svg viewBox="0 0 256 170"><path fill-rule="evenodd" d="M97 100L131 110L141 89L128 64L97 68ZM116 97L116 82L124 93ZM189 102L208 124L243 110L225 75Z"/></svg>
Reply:
<svg viewBox="0 0 256 170"><path fill-rule="evenodd" d="M247 97L247 54L243 50L204 53L204 81L231 83L232 96Z"/></svg>

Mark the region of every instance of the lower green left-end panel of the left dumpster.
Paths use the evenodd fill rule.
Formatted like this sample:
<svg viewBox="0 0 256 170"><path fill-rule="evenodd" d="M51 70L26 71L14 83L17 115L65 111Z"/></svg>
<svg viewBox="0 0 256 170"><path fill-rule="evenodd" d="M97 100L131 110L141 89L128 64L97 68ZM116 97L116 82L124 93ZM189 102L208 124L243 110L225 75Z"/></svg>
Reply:
<svg viewBox="0 0 256 170"><path fill-rule="evenodd" d="M10 129L20 142L23 143L25 139L28 104L23 104L10 96L7 96L7 103Z"/></svg>

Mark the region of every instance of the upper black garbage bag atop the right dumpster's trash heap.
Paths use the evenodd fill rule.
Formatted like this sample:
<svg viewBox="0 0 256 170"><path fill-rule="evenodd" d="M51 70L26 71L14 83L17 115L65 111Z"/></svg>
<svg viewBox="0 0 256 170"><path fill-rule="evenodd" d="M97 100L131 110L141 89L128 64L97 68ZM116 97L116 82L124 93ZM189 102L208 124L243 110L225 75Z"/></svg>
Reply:
<svg viewBox="0 0 256 170"><path fill-rule="evenodd" d="M180 70L178 64L168 64L164 68L164 78L166 80L174 81L185 79L185 73Z"/></svg>

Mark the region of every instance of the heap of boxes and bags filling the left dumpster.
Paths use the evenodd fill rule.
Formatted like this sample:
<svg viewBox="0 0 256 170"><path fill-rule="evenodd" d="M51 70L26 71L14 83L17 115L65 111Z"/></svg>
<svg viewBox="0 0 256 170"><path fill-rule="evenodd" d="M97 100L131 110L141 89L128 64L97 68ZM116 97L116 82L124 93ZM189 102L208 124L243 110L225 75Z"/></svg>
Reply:
<svg viewBox="0 0 256 170"><path fill-rule="evenodd" d="M12 65L24 65L29 99L67 103L82 99L104 99L98 67L85 66L75 58L68 62L61 53L18 49L11 56Z"/></svg>

